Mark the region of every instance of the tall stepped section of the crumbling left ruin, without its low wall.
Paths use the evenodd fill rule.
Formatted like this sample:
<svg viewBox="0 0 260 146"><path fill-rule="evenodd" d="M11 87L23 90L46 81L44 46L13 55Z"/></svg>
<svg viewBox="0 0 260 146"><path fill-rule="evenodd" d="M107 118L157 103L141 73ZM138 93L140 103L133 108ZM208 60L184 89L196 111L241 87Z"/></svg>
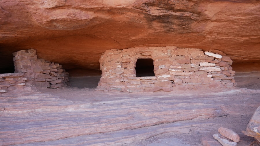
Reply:
<svg viewBox="0 0 260 146"><path fill-rule="evenodd" d="M20 50L13 53L15 73L24 73L27 85L61 88L68 85L68 72L62 65L38 59L36 50Z"/></svg>

